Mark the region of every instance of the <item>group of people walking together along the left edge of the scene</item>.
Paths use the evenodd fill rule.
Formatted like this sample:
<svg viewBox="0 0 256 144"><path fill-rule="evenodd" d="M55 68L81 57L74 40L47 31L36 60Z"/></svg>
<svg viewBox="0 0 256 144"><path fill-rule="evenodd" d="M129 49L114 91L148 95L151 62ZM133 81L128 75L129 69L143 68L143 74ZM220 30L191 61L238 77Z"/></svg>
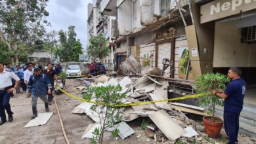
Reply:
<svg viewBox="0 0 256 144"><path fill-rule="evenodd" d="M10 63L0 62L0 125L7 122L5 111L9 122L13 120L10 99L14 96L14 91L20 94L22 89L26 92L27 98L32 98L32 119L37 117L38 98L45 103L45 111L49 111L49 105L53 101L54 81L58 84L58 75L61 72L60 63L47 63L43 67L30 62L12 67Z"/></svg>

